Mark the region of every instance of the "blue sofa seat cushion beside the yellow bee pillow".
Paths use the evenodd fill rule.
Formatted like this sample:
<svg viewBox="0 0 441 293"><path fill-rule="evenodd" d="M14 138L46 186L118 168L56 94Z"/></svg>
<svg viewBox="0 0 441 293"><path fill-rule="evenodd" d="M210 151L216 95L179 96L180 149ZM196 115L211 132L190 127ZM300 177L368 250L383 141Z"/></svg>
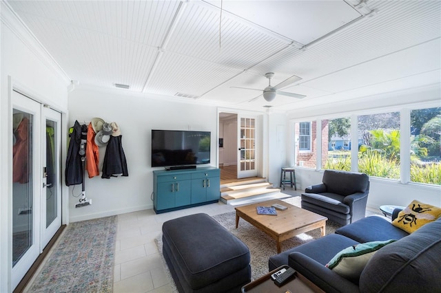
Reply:
<svg viewBox="0 0 441 293"><path fill-rule="evenodd" d="M344 235L360 243L370 241L385 241L389 239L401 239L409 235L382 216L373 215L343 226L336 230L336 234Z"/></svg>

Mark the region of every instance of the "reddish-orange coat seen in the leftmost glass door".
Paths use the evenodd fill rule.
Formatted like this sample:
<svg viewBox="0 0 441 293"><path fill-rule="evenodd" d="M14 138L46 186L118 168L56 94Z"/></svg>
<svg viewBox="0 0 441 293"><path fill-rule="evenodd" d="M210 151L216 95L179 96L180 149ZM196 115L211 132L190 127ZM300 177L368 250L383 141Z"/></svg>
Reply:
<svg viewBox="0 0 441 293"><path fill-rule="evenodd" d="M23 118L14 131L16 142L12 147L12 182L29 182L29 120Z"/></svg>

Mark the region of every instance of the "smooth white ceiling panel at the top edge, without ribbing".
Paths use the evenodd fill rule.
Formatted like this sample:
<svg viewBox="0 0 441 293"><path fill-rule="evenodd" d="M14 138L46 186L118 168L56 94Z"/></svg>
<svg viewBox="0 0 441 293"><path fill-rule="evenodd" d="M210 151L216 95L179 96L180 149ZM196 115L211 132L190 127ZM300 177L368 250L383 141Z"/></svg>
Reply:
<svg viewBox="0 0 441 293"><path fill-rule="evenodd" d="M208 1L220 8L220 1ZM345 1L223 1L223 10L304 45L361 16Z"/></svg>

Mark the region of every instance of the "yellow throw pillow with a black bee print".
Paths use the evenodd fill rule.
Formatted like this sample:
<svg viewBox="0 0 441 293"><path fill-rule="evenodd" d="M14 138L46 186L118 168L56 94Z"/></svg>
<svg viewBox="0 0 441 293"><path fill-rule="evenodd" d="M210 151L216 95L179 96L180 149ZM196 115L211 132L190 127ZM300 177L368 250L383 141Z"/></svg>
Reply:
<svg viewBox="0 0 441 293"><path fill-rule="evenodd" d="M413 200L409 206L398 213L398 217L392 221L392 225L410 234L440 216L441 208Z"/></svg>

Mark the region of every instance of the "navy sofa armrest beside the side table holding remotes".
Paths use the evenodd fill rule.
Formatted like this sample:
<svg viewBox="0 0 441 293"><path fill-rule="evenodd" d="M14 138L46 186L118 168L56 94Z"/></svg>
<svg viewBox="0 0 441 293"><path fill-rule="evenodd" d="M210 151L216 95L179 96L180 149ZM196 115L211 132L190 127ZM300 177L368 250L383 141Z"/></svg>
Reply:
<svg viewBox="0 0 441 293"><path fill-rule="evenodd" d="M288 264L325 292L360 292L358 285L300 252L289 254Z"/></svg>

